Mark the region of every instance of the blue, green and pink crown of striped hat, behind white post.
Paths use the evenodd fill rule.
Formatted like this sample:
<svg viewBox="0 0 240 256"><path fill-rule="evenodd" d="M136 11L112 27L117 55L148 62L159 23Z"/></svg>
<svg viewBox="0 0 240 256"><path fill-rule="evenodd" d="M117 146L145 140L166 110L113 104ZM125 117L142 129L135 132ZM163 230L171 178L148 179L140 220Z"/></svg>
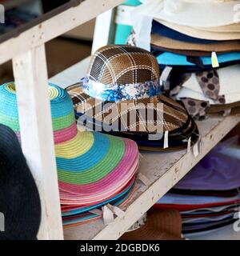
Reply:
<svg viewBox="0 0 240 256"><path fill-rule="evenodd" d="M66 130L68 131L66 139L70 139L74 137L77 130L70 96L65 90L53 84L49 85L48 90L55 141L56 139L59 141L58 137L66 134ZM0 123L9 126L19 134L18 104L14 82L0 86L0 97L2 99L0 101ZM61 138L64 139L64 136Z"/></svg>

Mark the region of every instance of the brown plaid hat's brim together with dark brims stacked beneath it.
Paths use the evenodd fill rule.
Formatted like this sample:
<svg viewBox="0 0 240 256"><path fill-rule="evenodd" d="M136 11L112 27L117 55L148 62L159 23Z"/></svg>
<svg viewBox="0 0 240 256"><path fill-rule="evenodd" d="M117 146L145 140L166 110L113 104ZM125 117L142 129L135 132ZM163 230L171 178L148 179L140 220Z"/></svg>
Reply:
<svg viewBox="0 0 240 256"><path fill-rule="evenodd" d="M193 118L190 118L190 116L186 114L186 110L183 106L163 94L135 101L99 102L98 99L90 98L89 95L82 91L81 83L69 86L66 90L74 103L75 118L78 121L78 125L85 126L89 130L98 130L104 133L106 132L104 127L107 127L107 133L122 138L133 139L142 150L162 151L164 150L164 139L150 139L149 135L154 135L154 132L151 133L148 130L146 118L141 117L141 115L136 116L136 122L134 122L134 124L129 122L126 124L123 131L119 129L123 125L122 118L126 118L129 121L130 115L136 113L136 110L138 111L138 104L143 104L143 106L146 106L147 111L154 110L154 116L158 116L150 125L162 127L162 134L166 131L169 132L169 148L166 150L186 148L187 140L190 137L192 144L198 141L198 126ZM128 107L127 112L121 110L121 103L129 104L128 106L130 107ZM149 103L152 105L148 105ZM158 107L158 103L162 103L162 106ZM88 109L86 109L86 106L88 106ZM111 110L105 110L105 106L110 107ZM97 112L99 109L101 109L101 111ZM114 122L112 122L112 120L108 123L104 122L104 118L112 113L111 111L115 114Z"/></svg>

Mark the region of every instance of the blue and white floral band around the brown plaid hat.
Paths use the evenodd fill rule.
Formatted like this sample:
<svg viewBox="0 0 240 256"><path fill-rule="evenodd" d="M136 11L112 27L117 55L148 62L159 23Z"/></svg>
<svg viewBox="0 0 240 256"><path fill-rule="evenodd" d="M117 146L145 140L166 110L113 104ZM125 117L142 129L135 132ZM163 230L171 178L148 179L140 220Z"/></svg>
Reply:
<svg viewBox="0 0 240 256"><path fill-rule="evenodd" d="M92 98L102 101L119 102L150 98L161 94L159 79L133 84L103 84L90 78L82 78L82 90Z"/></svg>

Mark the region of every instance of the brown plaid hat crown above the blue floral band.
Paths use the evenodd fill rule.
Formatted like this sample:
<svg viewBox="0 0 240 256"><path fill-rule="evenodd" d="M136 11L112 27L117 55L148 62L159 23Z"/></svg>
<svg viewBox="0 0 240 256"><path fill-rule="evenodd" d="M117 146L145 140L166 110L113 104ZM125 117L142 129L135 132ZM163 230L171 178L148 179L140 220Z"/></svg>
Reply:
<svg viewBox="0 0 240 256"><path fill-rule="evenodd" d="M154 55L135 46L104 46L90 62L88 78L102 84L136 84L159 78Z"/></svg>

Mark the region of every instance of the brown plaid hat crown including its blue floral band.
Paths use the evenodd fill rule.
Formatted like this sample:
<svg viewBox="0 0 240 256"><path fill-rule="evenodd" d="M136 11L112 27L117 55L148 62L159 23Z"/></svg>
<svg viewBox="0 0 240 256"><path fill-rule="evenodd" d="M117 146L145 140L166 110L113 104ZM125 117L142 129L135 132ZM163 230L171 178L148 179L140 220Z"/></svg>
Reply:
<svg viewBox="0 0 240 256"><path fill-rule="evenodd" d="M91 59L82 90L103 101L152 97L161 91L158 62L138 47L102 47Z"/></svg>

